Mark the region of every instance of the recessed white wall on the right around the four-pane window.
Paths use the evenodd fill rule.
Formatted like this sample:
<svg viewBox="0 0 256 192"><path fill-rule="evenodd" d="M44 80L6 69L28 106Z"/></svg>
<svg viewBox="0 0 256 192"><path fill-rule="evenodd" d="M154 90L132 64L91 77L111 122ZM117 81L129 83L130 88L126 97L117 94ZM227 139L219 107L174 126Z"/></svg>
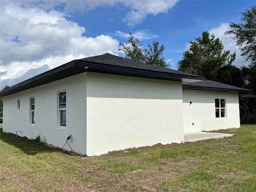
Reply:
<svg viewBox="0 0 256 192"><path fill-rule="evenodd" d="M216 118L215 98L226 100L225 118ZM183 90L183 116L184 133L239 128L238 93Z"/></svg>

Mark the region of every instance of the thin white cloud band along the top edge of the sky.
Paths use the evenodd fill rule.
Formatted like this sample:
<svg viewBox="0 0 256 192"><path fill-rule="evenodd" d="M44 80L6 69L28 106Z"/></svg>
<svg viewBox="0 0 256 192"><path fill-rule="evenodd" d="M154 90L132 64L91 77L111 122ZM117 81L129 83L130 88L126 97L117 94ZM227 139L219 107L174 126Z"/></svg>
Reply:
<svg viewBox="0 0 256 192"><path fill-rule="evenodd" d="M54 0L54 1L19 1L29 8L41 8L50 10L56 6L62 5L65 12L88 12L98 7L113 7L122 5L128 10L126 16L122 19L128 26L134 27L141 24L147 15L168 13L179 0Z"/></svg>

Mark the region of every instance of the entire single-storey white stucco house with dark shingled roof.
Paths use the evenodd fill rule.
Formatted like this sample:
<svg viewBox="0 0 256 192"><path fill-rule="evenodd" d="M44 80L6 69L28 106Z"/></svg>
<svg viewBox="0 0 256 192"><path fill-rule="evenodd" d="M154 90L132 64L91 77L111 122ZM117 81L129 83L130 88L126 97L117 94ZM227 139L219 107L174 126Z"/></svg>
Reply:
<svg viewBox="0 0 256 192"><path fill-rule="evenodd" d="M88 156L180 143L184 133L240 127L238 93L249 91L103 54L2 90L3 131L58 147L72 135Z"/></svg>

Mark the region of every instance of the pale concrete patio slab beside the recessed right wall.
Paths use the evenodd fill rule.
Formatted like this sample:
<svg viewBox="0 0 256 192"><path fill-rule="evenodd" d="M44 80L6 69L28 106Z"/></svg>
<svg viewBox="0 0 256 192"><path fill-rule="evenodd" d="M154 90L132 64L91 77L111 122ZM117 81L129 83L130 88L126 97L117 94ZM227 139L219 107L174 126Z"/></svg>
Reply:
<svg viewBox="0 0 256 192"><path fill-rule="evenodd" d="M194 132L194 133L185 133L184 142L196 142L207 139L222 139L225 137L231 137L234 134L225 134L225 133L208 133L208 132Z"/></svg>

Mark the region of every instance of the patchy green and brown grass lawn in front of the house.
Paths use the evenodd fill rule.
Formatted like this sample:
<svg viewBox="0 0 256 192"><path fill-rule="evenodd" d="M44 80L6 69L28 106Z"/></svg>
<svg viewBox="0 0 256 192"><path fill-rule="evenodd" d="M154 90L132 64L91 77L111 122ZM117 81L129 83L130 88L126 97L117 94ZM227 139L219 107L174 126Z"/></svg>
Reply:
<svg viewBox="0 0 256 192"><path fill-rule="evenodd" d="M255 192L256 126L230 138L82 158L0 132L0 191Z"/></svg>

